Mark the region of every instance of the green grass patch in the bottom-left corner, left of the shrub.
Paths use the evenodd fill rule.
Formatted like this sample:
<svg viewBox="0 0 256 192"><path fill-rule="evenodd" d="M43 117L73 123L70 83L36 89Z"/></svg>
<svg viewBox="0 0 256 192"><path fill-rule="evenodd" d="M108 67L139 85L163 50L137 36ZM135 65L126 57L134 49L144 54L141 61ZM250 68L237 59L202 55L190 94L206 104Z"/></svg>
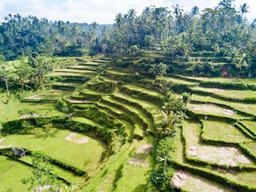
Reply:
<svg viewBox="0 0 256 192"><path fill-rule="evenodd" d="M22 178L27 178L30 167L0 155L0 191L27 191Z"/></svg>

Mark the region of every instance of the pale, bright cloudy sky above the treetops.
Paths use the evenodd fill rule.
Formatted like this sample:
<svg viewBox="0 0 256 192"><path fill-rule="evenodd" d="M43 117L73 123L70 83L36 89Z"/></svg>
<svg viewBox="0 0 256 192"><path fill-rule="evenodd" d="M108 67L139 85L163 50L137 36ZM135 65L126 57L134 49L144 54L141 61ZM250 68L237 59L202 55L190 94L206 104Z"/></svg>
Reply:
<svg viewBox="0 0 256 192"><path fill-rule="evenodd" d="M183 10L189 11L193 6L200 10L213 8L220 0L0 0L0 22L7 14L34 15L49 20L63 22L98 22L99 24L114 23L115 15L126 14L129 9L135 9L138 14L146 6L171 6L179 4ZM236 0L238 7L243 2L250 6L250 13L246 17L252 21L256 18L255 0Z"/></svg>

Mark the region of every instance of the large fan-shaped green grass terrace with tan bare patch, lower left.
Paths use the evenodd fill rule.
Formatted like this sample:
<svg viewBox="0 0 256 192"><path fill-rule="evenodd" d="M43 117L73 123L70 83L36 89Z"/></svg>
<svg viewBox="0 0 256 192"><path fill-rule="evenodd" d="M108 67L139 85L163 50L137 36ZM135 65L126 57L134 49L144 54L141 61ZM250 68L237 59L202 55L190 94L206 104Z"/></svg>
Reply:
<svg viewBox="0 0 256 192"><path fill-rule="evenodd" d="M66 162L71 166L86 170L90 174L98 166L105 144L84 134L77 134L76 139L88 138L89 142L78 144L66 141L69 130L43 130L38 134L8 135L0 144L2 146L17 146L28 150L42 150L51 158ZM70 158L72 157L72 158Z"/></svg>

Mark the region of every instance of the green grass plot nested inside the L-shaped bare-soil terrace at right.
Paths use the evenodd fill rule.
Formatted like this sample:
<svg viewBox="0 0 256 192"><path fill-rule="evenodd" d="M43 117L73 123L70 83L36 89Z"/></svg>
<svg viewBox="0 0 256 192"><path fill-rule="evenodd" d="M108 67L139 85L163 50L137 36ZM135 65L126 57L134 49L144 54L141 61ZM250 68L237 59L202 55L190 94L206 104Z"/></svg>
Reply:
<svg viewBox="0 0 256 192"><path fill-rule="evenodd" d="M210 140L244 143L251 142L240 130L227 122L204 121L202 137Z"/></svg>

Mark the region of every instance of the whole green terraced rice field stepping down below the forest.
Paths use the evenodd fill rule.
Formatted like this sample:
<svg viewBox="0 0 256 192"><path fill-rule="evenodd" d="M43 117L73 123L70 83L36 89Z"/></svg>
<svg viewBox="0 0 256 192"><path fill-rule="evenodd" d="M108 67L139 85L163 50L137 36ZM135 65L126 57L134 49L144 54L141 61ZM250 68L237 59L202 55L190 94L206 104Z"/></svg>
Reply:
<svg viewBox="0 0 256 192"><path fill-rule="evenodd" d="M159 162L167 162L166 171L174 169L173 177L167 179L182 191L256 191L256 107L244 102L254 98L253 90L200 84L233 82L230 79L172 76L138 82L134 71L102 72L98 70L101 65L105 65L103 60L84 61L55 71L52 76L59 77L51 83L52 90L2 107L3 131L12 128L15 120L22 122L23 132L6 131L0 149L42 150L50 158L82 170L84 175L51 163L58 177L68 185L73 183L77 191L146 191ZM74 82L74 78L84 77L85 82ZM162 108L166 96L156 88L159 81L182 86L192 97L186 104L185 119L167 137L174 147L155 158L155 145L162 137L159 130L168 118ZM254 80L234 82L254 84ZM181 98L180 93L177 96ZM54 102L60 100L66 103L67 113L55 108ZM30 120L34 118L47 123L33 124ZM22 170L29 170L31 157L26 155L20 161L0 155L0 183L5 183L0 184L1 191L8 190L6 182L18 183L14 191L26 191L27 186L18 181L26 177ZM14 169L17 174L10 177Z"/></svg>

